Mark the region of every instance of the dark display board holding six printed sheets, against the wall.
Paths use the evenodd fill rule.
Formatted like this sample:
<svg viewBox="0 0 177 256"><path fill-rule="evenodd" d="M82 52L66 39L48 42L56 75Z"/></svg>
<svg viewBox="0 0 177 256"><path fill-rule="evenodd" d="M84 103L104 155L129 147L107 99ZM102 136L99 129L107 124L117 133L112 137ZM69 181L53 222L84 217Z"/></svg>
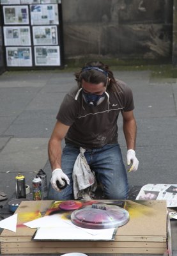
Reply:
<svg viewBox="0 0 177 256"><path fill-rule="evenodd" d="M0 0L6 69L63 65L61 0Z"/></svg>

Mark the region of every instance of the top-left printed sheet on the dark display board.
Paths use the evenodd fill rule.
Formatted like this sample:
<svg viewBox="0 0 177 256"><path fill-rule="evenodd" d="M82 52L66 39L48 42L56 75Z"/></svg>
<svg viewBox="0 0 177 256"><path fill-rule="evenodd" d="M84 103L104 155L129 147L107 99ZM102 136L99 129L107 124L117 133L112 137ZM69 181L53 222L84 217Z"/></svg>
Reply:
<svg viewBox="0 0 177 256"><path fill-rule="evenodd" d="M29 24L29 12L26 5L3 6L4 24Z"/></svg>

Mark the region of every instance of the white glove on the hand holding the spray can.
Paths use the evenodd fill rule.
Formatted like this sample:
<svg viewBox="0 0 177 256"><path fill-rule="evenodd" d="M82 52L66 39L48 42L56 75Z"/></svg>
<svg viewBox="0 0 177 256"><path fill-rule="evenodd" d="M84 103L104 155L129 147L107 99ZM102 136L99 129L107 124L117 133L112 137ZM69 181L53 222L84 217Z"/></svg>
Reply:
<svg viewBox="0 0 177 256"><path fill-rule="evenodd" d="M59 168L53 170L52 172L52 178L50 179L50 183L52 184L52 187L56 190L56 191L61 191L61 189L58 188L56 181L59 181L59 184L61 184L61 186L65 185L65 181L66 183L69 185L70 184L70 179L68 178L68 176Z"/></svg>

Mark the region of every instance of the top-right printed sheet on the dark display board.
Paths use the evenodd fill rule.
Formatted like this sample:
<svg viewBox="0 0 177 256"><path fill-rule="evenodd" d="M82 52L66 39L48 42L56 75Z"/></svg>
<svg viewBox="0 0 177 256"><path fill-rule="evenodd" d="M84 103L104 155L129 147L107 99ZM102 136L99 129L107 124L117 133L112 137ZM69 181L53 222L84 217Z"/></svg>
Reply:
<svg viewBox="0 0 177 256"><path fill-rule="evenodd" d="M59 24L58 4L31 4L31 25Z"/></svg>

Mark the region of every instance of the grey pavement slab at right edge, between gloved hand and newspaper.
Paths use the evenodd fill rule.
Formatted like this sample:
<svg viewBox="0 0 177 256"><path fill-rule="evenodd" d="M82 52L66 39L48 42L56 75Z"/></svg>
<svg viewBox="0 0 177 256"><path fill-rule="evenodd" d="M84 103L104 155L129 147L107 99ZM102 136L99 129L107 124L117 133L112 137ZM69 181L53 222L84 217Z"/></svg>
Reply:
<svg viewBox="0 0 177 256"><path fill-rule="evenodd" d="M137 147L139 169L137 172L128 173L129 184L176 184L175 148L176 146L173 145Z"/></svg>

